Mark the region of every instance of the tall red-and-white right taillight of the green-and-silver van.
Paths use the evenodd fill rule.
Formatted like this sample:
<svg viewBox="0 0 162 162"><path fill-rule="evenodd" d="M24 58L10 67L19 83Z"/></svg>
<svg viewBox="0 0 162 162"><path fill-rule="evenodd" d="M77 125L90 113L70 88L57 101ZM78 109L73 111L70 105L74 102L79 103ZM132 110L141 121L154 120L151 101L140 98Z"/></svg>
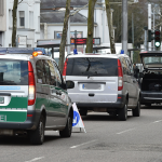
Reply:
<svg viewBox="0 0 162 162"><path fill-rule="evenodd" d="M28 106L33 105L36 100L36 82L33 68L30 62L28 62Z"/></svg>

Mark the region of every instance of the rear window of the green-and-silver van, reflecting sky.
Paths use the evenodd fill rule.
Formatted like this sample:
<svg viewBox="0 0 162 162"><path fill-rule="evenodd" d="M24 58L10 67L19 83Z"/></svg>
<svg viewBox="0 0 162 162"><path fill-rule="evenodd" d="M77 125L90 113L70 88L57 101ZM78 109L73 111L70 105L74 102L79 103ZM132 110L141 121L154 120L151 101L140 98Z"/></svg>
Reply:
<svg viewBox="0 0 162 162"><path fill-rule="evenodd" d="M27 60L0 59L0 85L28 85Z"/></svg>

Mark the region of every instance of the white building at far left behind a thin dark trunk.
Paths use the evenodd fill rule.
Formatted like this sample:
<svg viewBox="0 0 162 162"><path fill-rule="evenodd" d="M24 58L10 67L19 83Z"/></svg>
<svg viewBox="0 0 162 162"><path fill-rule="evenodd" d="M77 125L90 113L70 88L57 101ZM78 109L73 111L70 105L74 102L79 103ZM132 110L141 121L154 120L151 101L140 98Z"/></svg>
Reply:
<svg viewBox="0 0 162 162"><path fill-rule="evenodd" d="M0 0L0 44L12 44L14 0ZM19 0L21 2L21 0ZM35 48L40 39L40 0L23 0L17 8L17 46Z"/></svg>

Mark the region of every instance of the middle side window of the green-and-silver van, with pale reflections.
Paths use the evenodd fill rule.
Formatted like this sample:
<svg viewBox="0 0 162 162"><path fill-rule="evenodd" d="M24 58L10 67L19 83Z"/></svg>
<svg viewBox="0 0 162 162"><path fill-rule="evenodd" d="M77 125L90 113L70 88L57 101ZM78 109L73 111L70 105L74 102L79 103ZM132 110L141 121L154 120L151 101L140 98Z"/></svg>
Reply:
<svg viewBox="0 0 162 162"><path fill-rule="evenodd" d="M56 68L55 68L55 66L53 65L52 60L49 59L48 63L49 63L50 73L51 73L51 82L50 82L50 84L56 86L56 83L57 83L57 79L56 79Z"/></svg>

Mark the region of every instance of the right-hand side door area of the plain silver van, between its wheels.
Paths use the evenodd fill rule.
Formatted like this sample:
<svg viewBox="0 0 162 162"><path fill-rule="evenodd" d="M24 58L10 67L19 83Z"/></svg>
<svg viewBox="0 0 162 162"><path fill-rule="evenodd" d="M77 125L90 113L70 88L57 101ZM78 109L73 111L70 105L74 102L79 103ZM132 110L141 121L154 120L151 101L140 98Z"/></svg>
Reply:
<svg viewBox="0 0 162 162"><path fill-rule="evenodd" d="M129 57L125 58L126 59L126 65L129 67L129 73L127 73L127 78L129 78L129 83L130 83L130 92L129 92L129 100L132 100L130 104L131 106L135 106L137 105L137 80L134 77L134 72L133 72L133 64L131 62L131 59Z"/></svg>

